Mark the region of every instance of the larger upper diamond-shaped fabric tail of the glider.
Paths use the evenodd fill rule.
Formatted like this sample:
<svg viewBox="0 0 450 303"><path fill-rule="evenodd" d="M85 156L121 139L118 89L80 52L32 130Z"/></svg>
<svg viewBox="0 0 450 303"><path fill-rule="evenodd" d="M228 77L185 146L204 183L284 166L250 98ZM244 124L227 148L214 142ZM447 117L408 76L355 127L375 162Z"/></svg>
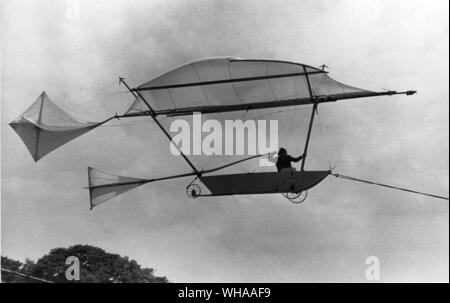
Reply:
<svg viewBox="0 0 450 303"><path fill-rule="evenodd" d="M9 125L37 162L61 145L106 121L86 122L76 119L60 109L45 92L42 92L36 101Z"/></svg>

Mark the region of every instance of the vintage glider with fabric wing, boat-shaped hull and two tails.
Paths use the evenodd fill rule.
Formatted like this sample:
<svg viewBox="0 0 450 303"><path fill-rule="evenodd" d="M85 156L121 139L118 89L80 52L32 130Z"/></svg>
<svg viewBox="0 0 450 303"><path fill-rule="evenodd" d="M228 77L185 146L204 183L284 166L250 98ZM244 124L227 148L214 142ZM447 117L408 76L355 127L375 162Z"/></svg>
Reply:
<svg viewBox="0 0 450 303"><path fill-rule="evenodd" d="M131 107L121 116L116 115L98 123L82 122L56 107L43 93L30 109L11 123L11 126L37 161L62 144L113 118L148 116L167 138L172 140L158 117L312 105L304 148L306 154L319 104L415 93L373 92L342 84L330 78L328 72L305 64L235 57L207 58L190 62L136 88L130 88L124 78L120 78L120 82L135 97ZM201 170L181 151L180 154L190 166L191 172L154 179L138 179L88 168L91 208L146 183L185 177L194 177L186 188L188 196L192 198L282 193L292 202L301 202L309 188L316 186L332 173L330 170L306 171L304 158L300 171L211 175L263 155ZM202 194L197 180L203 183L210 193Z"/></svg>

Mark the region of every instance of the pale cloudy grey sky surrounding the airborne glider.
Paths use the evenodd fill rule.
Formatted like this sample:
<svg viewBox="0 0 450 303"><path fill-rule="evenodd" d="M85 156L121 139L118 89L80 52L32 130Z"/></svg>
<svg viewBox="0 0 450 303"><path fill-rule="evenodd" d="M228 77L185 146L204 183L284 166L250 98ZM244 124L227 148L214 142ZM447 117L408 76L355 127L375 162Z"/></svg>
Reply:
<svg viewBox="0 0 450 303"><path fill-rule="evenodd" d="M43 90L102 120L132 102L119 76L138 85L201 57L325 63L341 82L418 94L321 106L308 167L329 159L343 174L448 196L448 1L19 0L0 11L2 255L91 244L175 282L364 282L374 255L382 281L448 281L447 201L333 177L301 205L190 200L179 180L89 211L87 166L136 177L188 167L146 119L112 122L38 163L8 126ZM295 153L308 111L278 117Z"/></svg>

